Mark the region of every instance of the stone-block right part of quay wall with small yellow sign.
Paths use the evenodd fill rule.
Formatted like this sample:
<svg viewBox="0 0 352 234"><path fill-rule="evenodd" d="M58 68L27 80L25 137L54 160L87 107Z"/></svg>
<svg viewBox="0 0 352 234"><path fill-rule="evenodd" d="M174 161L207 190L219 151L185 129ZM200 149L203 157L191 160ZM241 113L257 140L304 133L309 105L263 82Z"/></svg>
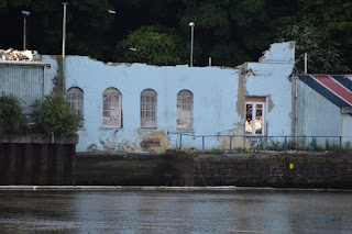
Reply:
<svg viewBox="0 0 352 234"><path fill-rule="evenodd" d="M199 155L194 168L195 186L352 188L351 155Z"/></svg>

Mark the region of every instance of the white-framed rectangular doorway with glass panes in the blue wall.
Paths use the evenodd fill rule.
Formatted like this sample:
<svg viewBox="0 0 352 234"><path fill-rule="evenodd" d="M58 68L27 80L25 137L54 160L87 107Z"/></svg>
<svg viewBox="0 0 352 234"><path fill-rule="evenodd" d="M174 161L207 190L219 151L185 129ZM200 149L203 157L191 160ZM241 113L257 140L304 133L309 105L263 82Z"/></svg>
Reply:
<svg viewBox="0 0 352 234"><path fill-rule="evenodd" d="M245 102L245 134L264 134L265 98L246 98Z"/></svg>

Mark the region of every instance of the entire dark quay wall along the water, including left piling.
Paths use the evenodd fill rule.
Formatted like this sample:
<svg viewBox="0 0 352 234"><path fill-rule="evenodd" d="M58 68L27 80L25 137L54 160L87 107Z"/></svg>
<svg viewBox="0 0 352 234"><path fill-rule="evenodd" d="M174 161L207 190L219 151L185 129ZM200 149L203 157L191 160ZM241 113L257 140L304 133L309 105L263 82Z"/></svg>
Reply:
<svg viewBox="0 0 352 234"><path fill-rule="evenodd" d="M21 138L20 138L21 140ZM0 145L0 185L167 186L352 189L352 155L168 152L75 154L75 141Z"/></svg>

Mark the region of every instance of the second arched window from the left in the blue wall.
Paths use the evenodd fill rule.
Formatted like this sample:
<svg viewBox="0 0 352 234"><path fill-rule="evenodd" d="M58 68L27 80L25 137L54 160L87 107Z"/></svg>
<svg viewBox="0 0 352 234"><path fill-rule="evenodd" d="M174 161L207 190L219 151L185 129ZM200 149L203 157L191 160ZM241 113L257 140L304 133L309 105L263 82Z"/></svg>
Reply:
<svg viewBox="0 0 352 234"><path fill-rule="evenodd" d="M116 93L112 93L112 90L116 91ZM109 91L111 93L109 93ZM107 93L108 92L108 93ZM111 99L111 97L117 97L118 101L117 101L117 109L111 109L111 101L106 102L105 97L109 97L109 99ZM107 88L103 92L102 92L102 100L101 100L101 125L102 127L107 127L107 129L122 129L122 93L120 92L119 89L114 88L114 87L109 87ZM106 104L110 104L109 110L106 110L105 107ZM111 119L111 116L107 118L105 116L106 112L109 112L109 115L111 114L111 111L117 110L117 120L118 120L118 124L117 125L112 125L112 124L105 124L105 120L110 120L112 121L113 119Z"/></svg>

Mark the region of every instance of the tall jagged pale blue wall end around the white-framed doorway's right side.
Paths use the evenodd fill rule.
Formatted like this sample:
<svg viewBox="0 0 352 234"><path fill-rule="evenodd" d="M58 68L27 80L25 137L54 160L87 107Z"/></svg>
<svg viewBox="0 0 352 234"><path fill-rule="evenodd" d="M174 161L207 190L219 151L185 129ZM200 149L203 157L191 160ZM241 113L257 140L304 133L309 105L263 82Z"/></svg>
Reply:
<svg viewBox="0 0 352 234"><path fill-rule="evenodd" d="M295 65L295 43L275 43L260 63L249 63L246 77L249 96L266 97L267 135L292 135L292 78Z"/></svg>

